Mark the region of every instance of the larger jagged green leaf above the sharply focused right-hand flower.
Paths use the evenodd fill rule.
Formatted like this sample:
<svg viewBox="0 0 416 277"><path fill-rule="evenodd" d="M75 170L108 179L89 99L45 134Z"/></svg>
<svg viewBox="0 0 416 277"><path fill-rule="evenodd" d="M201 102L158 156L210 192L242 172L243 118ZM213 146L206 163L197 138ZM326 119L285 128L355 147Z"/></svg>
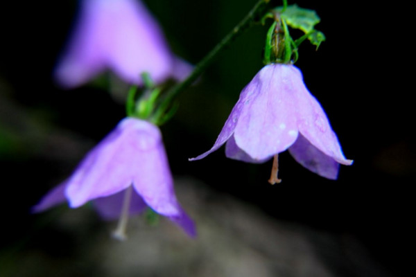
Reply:
<svg viewBox="0 0 416 277"><path fill-rule="evenodd" d="M282 9L283 7L278 7L275 10L281 12ZM313 27L320 22L315 10L300 8L296 4L288 6L284 12L281 12L280 16L288 26L300 29L305 34L311 33Z"/></svg>

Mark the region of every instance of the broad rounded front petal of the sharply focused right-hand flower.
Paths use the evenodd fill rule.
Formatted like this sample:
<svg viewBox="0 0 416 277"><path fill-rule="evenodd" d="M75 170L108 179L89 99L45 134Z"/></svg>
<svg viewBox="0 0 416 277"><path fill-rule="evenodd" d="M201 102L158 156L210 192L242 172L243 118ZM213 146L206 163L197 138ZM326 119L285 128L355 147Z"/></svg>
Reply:
<svg viewBox="0 0 416 277"><path fill-rule="evenodd" d="M241 150L254 160L264 161L295 142L293 80L284 66L264 66L242 94L251 97L242 103L234 130Z"/></svg>

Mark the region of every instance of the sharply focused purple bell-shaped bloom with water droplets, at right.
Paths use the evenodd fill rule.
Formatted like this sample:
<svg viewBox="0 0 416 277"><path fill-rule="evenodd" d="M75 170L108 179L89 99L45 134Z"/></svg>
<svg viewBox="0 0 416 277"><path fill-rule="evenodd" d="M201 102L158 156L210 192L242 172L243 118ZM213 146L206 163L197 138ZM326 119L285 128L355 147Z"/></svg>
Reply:
<svg viewBox="0 0 416 277"><path fill-rule="evenodd" d="M305 168L336 179L339 164L351 165L319 102L306 89L302 73L288 64L264 66L241 91L214 146L227 141L231 159L263 163L288 149Z"/></svg>

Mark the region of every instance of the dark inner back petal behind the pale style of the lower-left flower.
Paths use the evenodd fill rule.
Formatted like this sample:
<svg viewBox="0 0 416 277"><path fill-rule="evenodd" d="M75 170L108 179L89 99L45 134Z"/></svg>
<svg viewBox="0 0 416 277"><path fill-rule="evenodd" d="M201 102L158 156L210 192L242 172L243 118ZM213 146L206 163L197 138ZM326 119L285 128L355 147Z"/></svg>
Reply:
<svg viewBox="0 0 416 277"><path fill-rule="evenodd" d="M94 207L101 217L105 220L115 220L121 215L121 208L123 207L125 190L122 190L119 193L110 195L107 197L101 197L94 199ZM147 208L146 203L143 201L143 198L136 193L135 190L132 191L132 198L130 200L130 209L129 215L135 215L137 213L142 213Z"/></svg>

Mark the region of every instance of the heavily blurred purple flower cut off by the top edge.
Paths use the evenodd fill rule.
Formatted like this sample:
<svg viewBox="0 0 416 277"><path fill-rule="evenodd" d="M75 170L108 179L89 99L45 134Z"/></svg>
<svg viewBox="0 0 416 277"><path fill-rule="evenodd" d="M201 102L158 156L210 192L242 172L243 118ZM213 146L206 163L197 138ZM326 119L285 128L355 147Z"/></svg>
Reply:
<svg viewBox="0 0 416 277"><path fill-rule="evenodd" d="M157 21L140 1L82 0L55 78L62 87L72 88L105 69L125 82L141 84L141 73L163 82L187 77L191 66L171 53Z"/></svg>

